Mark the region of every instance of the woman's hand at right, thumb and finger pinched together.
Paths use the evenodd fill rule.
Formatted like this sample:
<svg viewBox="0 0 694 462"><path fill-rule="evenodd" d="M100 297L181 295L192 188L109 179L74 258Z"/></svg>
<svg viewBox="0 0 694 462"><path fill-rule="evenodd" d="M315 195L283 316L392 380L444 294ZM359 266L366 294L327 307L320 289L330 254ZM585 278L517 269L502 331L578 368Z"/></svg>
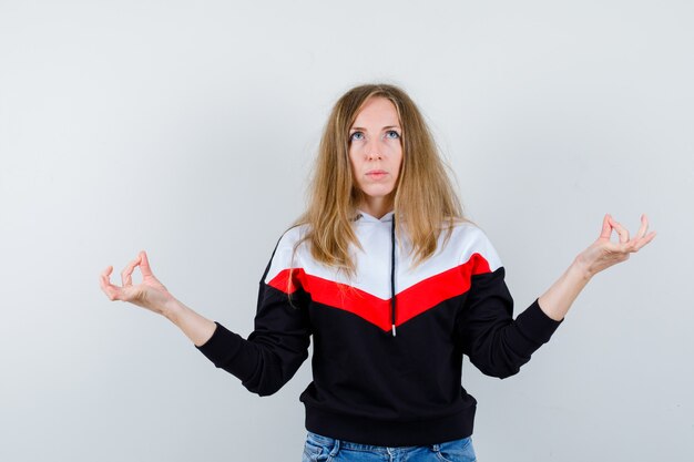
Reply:
<svg viewBox="0 0 694 462"><path fill-rule="evenodd" d="M610 240L613 230L616 232L619 242ZM612 265L625 261L632 253L639 251L641 247L653 240L655 232L646 234L647 230L649 218L645 214L641 215L641 227L632 238L629 237L629 230L608 214L602 222L600 237L579 254L576 263L588 271L589 276L594 276Z"/></svg>

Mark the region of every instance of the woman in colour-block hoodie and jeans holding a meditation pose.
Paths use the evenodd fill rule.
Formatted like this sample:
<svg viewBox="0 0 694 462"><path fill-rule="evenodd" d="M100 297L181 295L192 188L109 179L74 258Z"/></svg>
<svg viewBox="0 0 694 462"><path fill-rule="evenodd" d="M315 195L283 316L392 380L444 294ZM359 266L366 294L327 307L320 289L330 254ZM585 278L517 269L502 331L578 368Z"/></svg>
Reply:
<svg viewBox="0 0 694 462"><path fill-rule="evenodd" d="M463 219L416 105L396 86L361 85L333 109L308 208L273 253L247 340L176 300L144 251L121 287L112 267L101 284L112 300L172 320L261 396L293 377L313 336L305 461L472 461L462 355L490 376L518 372L593 275L653 239L646 229L643 216L630 238L606 215L598 240L513 320L500 259Z"/></svg>

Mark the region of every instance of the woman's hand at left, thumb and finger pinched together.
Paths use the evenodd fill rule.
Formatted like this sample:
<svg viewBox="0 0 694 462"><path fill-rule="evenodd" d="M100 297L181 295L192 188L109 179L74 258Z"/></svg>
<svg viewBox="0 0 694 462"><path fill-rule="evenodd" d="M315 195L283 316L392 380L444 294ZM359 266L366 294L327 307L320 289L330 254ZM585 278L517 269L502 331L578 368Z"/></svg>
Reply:
<svg viewBox="0 0 694 462"><path fill-rule="evenodd" d="M133 285L132 276L137 267L142 273L142 283ZM166 315L166 308L175 301L166 287L152 274L147 254L144 250L121 271L123 286L111 284L112 271L113 267L109 266L101 274L101 289L111 300L130 301L159 315Z"/></svg>

